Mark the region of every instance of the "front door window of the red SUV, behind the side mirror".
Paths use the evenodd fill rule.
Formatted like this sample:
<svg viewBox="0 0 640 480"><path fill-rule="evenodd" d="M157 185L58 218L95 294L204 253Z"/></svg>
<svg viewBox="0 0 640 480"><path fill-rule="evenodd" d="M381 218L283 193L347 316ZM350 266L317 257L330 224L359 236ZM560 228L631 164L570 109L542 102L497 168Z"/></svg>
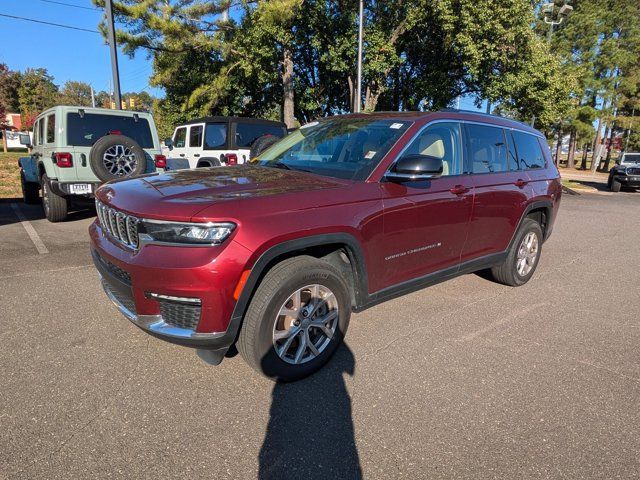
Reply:
<svg viewBox="0 0 640 480"><path fill-rule="evenodd" d="M442 176L461 175L462 140L460 124L455 122L436 123L423 130L403 153L406 155L427 155L442 160Z"/></svg>

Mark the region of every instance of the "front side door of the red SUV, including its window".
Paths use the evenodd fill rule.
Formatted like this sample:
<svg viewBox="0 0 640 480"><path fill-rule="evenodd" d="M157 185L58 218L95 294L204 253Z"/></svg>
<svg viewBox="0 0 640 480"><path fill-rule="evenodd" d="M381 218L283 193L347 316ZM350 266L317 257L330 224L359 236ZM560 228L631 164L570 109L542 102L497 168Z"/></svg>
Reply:
<svg viewBox="0 0 640 480"><path fill-rule="evenodd" d="M463 162L457 122L424 129L401 155L442 159L442 176L431 180L383 182L384 255L380 279L371 291L455 268L467 236L473 186Z"/></svg>

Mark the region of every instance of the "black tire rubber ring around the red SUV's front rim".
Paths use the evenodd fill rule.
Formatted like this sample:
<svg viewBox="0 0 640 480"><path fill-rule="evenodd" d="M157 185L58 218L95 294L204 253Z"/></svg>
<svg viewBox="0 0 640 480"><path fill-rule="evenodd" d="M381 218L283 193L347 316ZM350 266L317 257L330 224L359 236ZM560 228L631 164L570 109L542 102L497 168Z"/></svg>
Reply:
<svg viewBox="0 0 640 480"><path fill-rule="evenodd" d="M313 360L300 365L292 365L282 360L273 346L273 326L277 319L280 308L287 298L297 289L311 284L322 285L333 292L338 302L338 327L327 347ZM351 316L351 301L348 289L344 281L333 272L322 268L312 268L300 272L288 279L275 295L272 295L262 312L260 327L256 329L257 338L254 339L257 355L256 361L261 365L262 371L270 378L279 381L294 381L308 375L321 368L336 349L342 343L344 335L349 326Z"/></svg>

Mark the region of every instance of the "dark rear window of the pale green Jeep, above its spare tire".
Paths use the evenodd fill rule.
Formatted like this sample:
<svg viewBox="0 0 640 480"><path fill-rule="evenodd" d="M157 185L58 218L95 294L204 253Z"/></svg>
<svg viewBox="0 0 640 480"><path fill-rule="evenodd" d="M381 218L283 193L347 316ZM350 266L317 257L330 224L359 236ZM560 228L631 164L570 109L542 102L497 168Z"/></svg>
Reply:
<svg viewBox="0 0 640 480"><path fill-rule="evenodd" d="M153 148L153 137L149 122L144 118L120 115L85 113L67 114L67 143L90 147L105 135L125 135L135 140L142 148Z"/></svg>

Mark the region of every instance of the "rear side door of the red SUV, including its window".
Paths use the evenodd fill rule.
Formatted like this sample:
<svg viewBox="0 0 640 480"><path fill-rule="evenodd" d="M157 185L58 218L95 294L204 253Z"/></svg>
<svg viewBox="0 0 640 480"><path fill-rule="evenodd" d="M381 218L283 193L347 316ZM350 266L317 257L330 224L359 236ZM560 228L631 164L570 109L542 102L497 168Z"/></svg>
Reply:
<svg viewBox="0 0 640 480"><path fill-rule="evenodd" d="M510 130L473 123L464 130L475 199L462 262L504 251L531 196Z"/></svg>

